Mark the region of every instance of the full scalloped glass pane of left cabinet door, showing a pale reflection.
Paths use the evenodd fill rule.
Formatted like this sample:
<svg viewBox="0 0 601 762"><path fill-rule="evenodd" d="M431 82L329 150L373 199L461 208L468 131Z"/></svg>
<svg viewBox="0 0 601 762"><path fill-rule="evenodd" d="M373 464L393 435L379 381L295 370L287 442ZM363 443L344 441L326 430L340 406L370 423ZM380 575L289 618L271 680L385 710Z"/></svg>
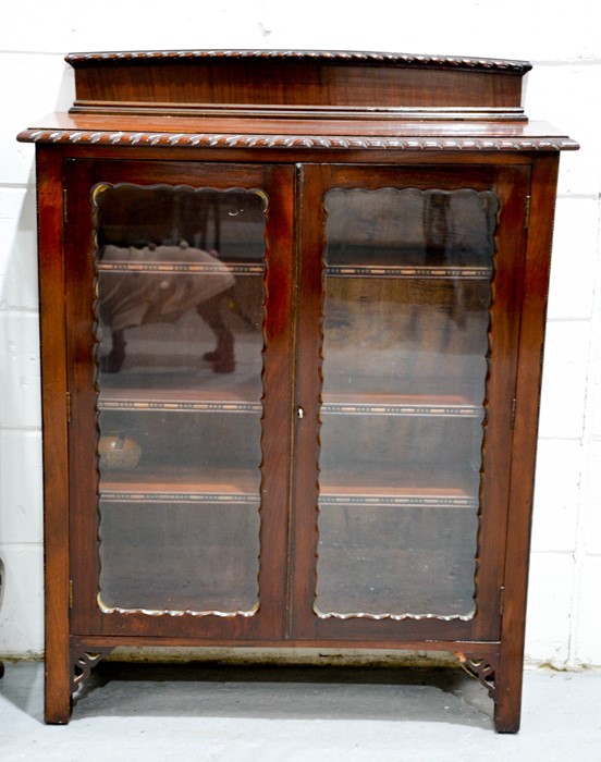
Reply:
<svg viewBox="0 0 601 762"><path fill-rule="evenodd" d="M266 197L95 188L106 611L258 606Z"/></svg>

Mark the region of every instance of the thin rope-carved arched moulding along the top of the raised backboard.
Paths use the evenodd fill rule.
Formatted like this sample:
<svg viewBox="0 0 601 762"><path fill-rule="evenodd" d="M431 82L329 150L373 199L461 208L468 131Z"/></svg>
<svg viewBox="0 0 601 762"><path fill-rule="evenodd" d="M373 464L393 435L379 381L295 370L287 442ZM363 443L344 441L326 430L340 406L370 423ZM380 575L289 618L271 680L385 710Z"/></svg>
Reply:
<svg viewBox="0 0 601 762"><path fill-rule="evenodd" d="M427 66L434 69L500 70L525 74L532 64L529 61L468 58L463 56L421 56L347 50L139 50L120 52L69 53L65 61L72 66L89 63L120 63L123 61L155 62L157 60L189 61L195 59L281 59L323 61L324 63L356 62L397 64L401 66Z"/></svg>

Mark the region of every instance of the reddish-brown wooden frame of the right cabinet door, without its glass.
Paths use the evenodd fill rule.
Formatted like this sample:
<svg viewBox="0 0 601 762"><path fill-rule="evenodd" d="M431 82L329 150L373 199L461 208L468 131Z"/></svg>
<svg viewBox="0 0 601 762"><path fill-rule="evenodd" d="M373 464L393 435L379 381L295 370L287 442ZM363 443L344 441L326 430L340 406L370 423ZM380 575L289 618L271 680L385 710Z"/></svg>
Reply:
<svg viewBox="0 0 601 762"><path fill-rule="evenodd" d="M321 374L315 358L320 356L322 336L319 331L321 314L321 229L317 219L326 189L353 187L437 187L455 185L456 170L430 170L417 172L381 170L353 167L324 165L308 168L302 198L304 214L303 249L305 254L304 280L300 284L306 309L299 322L298 339L298 383L296 404L305 409L305 418L297 423L298 465L295 469L296 506L293 537L298 545L295 554L297 567L293 575L291 632L293 637L319 639L320 637L344 637L355 631L360 639L385 638L393 631L407 629L407 637L422 635L425 640L442 632L450 638L480 640L499 637L500 590L502 585L503 548L499 537L506 533L506 500L512 452L512 401L515 394L515 365L519 331L519 302L522 298L522 273L524 269L524 207L528 190L529 172L525 168L483 172L466 169L461 183L469 187L492 187L502 201L502 211L496 235L496 272L493 281L494 304L490 316L489 345L492 359L489 368L487 389L488 419L482 470L486 479L480 495L481 519L479 554L486 558L477 574L477 613L468 622L444 622L430 618L408 619L403 623L390 618L383 620L319 619L307 617L316 591L315 557L317 549L317 503L318 484L315 479L317 468L316 452L319 429L310 423L320 417ZM316 214L311 214L315 210ZM322 213L322 212L321 212ZM402 468L397 482L402 483ZM415 469L413 469L415 479ZM346 477L348 478L348 476ZM429 476L430 480L432 475ZM414 482L415 486L415 482Z"/></svg>

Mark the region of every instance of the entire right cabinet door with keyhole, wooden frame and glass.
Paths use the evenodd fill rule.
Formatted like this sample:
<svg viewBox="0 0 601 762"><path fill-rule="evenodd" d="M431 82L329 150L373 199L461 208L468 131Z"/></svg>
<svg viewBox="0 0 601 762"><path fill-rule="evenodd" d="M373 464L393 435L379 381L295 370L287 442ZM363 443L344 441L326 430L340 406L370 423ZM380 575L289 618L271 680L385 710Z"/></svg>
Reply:
<svg viewBox="0 0 601 762"><path fill-rule="evenodd" d="M304 169L293 637L499 638L528 184Z"/></svg>

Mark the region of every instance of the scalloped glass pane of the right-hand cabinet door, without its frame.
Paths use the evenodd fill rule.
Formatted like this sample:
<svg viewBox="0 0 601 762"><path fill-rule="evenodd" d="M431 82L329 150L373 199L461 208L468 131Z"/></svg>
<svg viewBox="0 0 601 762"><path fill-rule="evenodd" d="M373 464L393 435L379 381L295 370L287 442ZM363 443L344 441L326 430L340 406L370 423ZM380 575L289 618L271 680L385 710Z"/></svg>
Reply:
<svg viewBox="0 0 601 762"><path fill-rule="evenodd" d="M474 614L498 210L467 188L326 195L322 617Z"/></svg>

